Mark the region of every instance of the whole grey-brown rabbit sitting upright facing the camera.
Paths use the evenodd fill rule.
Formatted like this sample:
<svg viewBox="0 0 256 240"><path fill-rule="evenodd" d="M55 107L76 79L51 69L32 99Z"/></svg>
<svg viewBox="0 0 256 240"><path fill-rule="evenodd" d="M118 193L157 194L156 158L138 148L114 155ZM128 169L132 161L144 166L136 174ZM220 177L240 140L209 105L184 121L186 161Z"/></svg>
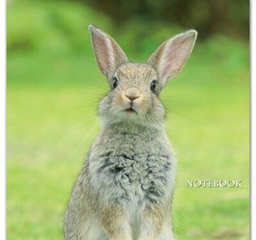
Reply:
<svg viewBox="0 0 256 240"><path fill-rule="evenodd" d="M196 30L168 39L147 63L131 63L104 31L89 26L110 92L98 108L101 130L73 187L66 240L174 240L176 157L158 96L186 63Z"/></svg>

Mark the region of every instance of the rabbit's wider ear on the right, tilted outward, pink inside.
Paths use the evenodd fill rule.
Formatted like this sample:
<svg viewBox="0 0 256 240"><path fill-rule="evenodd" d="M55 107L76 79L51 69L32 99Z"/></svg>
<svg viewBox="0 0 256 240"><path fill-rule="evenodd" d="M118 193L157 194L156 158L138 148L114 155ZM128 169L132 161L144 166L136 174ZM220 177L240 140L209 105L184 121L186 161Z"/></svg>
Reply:
<svg viewBox="0 0 256 240"><path fill-rule="evenodd" d="M148 64L156 69L162 87L180 72L190 56L196 36L195 30L180 33L162 43L148 59Z"/></svg>

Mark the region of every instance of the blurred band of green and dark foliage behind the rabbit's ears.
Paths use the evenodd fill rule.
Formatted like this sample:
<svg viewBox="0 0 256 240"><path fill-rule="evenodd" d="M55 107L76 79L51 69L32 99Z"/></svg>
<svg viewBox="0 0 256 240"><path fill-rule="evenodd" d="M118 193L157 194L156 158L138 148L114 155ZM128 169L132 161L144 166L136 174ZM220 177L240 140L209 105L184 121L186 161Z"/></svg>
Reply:
<svg viewBox="0 0 256 240"><path fill-rule="evenodd" d="M11 0L7 6L8 53L20 50L91 51L88 25L108 31L125 51L150 54L161 41L188 28L198 41L227 33L248 38L249 1ZM118 6L117 6L118 5ZM169 9L172 9L170 11ZM114 23L114 24L113 24ZM121 27L122 26L122 27Z"/></svg>

